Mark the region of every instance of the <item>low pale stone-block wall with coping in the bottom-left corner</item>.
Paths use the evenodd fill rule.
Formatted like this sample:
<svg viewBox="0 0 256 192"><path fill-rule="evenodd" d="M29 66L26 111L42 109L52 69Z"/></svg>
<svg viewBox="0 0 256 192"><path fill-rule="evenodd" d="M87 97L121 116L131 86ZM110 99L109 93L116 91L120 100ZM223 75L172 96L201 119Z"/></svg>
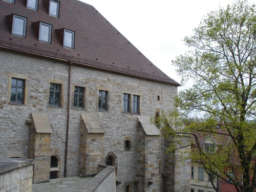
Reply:
<svg viewBox="0 0 256 192"><path fill-rule="evenodd" d="M32 192L33 162L32 159L1 159L0 191Z"/></svg>

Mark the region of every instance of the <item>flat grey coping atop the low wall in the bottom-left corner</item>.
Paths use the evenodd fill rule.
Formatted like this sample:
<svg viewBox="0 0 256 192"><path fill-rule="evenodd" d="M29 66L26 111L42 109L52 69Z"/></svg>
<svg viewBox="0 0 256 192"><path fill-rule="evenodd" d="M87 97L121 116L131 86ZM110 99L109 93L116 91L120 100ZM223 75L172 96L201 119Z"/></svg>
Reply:
<svg viewBox="0 0 256 192"><path fill-rule="evenodd" d="M34 164L34 159L19 159L19 158L0 159L0 174L16 168L20 168L20 167L24 167L32 164Z"/></svg>

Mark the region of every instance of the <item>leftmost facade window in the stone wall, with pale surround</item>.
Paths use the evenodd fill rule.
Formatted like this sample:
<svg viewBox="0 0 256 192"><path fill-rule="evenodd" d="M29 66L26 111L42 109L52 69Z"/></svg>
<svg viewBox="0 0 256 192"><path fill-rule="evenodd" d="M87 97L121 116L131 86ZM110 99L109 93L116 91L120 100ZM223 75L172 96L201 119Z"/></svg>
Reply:
<svg viewBox="0 0 256 192"><path fill-rule="evenodd" d="M11 81L11 102L23 103L25 91L25 80L12 78Z"/></svg>

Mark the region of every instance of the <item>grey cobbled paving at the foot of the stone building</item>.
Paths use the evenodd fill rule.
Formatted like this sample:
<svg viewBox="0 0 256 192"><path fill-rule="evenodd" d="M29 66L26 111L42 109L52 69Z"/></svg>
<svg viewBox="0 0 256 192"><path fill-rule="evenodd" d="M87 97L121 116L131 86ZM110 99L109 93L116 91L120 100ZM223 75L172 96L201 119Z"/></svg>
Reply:
<svg viewBox="0 0 256 192"><path fill-rule="evenodd" d="M84 188L90 179L92 179L92 177L67 177L52 179L49 183L33 184L33 192L77 192Z"/></svg>

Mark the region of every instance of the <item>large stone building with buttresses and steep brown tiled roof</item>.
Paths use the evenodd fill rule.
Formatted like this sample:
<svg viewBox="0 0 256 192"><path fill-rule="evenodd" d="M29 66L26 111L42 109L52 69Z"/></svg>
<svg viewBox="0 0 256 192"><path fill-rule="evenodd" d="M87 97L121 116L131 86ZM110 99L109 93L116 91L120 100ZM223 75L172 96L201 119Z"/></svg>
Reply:
<svg viewBox="0 0 256 192"><path fill-rule="evenodd" d="M117 191L190 190L190 164L165 154L150 123L179 83L91 5L0 7L0 157L34 159L34 183L113 165Z"/></svg>

